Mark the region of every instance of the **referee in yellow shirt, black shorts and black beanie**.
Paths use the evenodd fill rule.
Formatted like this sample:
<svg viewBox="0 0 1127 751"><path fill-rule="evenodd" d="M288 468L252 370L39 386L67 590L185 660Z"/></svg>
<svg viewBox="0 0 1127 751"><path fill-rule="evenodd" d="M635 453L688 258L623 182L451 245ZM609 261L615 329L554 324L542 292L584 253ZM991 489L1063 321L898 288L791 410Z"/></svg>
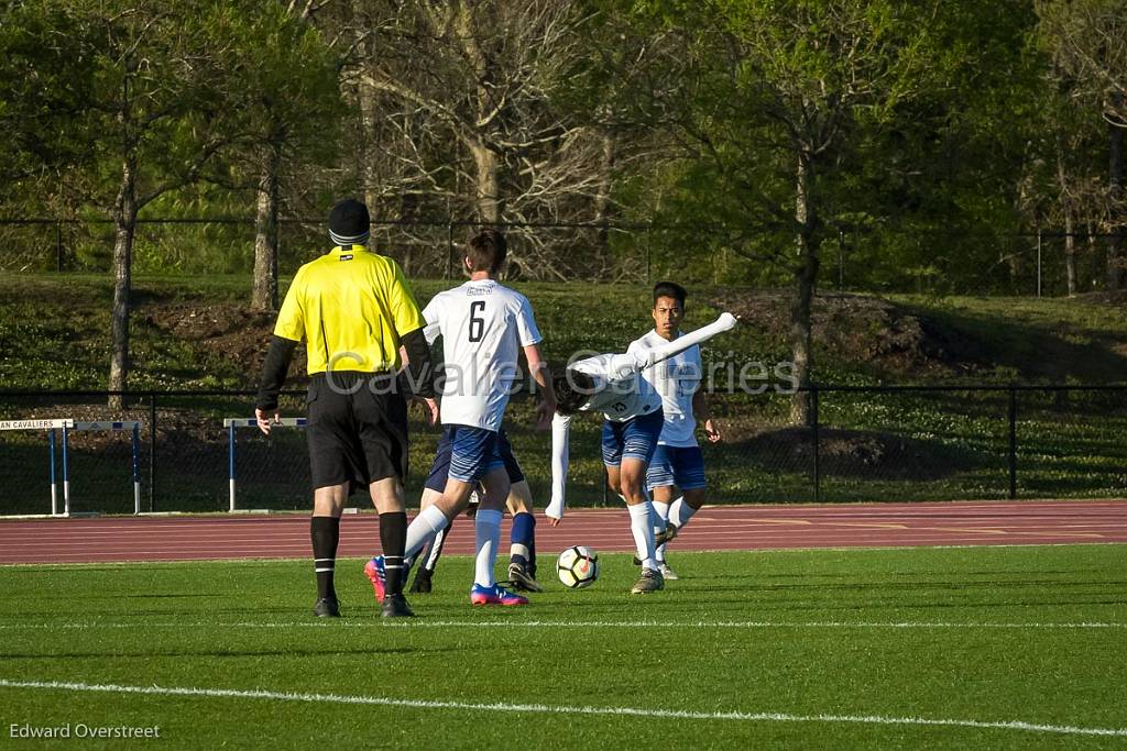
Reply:
<svg viewBox="0 0 1127 751"><path fill-rule="evenodd" d="M367 207L346 199L329 214L335 248L305 263L278 312L264 366L255 415L269 433L277 399L298 343L309 358L309 462L313 476L313 569L319 617L339 617L332 574L340 513L349 491L366 486L380 513L380 543L387 560L384 617L414 615L403 598L407 511L407 388L397 379L399 348L414 396L437 419L426 321L407 287L402 269L365 247L371 231Z"/></svg>

